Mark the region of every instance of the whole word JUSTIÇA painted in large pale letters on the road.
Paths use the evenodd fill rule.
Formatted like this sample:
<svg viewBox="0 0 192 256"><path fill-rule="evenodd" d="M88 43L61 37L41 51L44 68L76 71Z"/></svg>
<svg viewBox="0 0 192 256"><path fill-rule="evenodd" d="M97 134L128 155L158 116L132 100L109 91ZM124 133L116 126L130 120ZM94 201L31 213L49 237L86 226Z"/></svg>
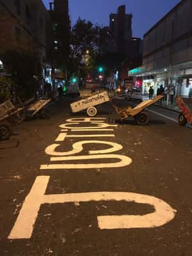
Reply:
<svg viewBox="0 0 192 256"><path fill-rule="evenodd" d="M57 169L72 169L72 172L77 172L78 169L94 169L97 168L118 168L129 166L132 163L131 157L114 152L123 149L123 146L111 141L104 141L103 138L115 138L115 134L79 134L79 131L114 131L117 125L110 125L104 122L106 118L72 118L67 119L65 124L60 125L61 132L56 138L56 143L45 148L45 153L51 156L51 164L42 164L40 172ZM84 126L81 124L88 124ZM74 132L74 133L71 133ZM63 141L68 138L76 138L79 141L72 144L72 150L61 152L60 147ZM82 140L82 138L91 138L91 140ZM93 138L101 138L101 140L93 140ZM83 154L83 145L108 145L106 149L89 150L88 154ZM82 155L76 156L76 154ZM92 163L89 163L90 159ZM96 159L103 161L97 163ZM115 163L111 163L111 159L118 159ZM86 160L88 163L81 163L81 160ZM63 163L64 161L64 163ZM65 163L69 161L69 163ZM75 163L74 163L75 161ZM106 163L107 161L107 163ZM52 164L54 162L54 164ZM56 163L58 162L58 163ZM61 162L61 163L60 163ZM71 163L70 163L71 162ZM127 169L131 172L131 168ZM154 212L140 215L107 215L97 216L98 227L102 229L122 229L122 228L155 228L160 227L169 221L173 220L176 211L163 200L149 195L141 195L138 193L125 192L88 192L88 193L72 193L72 194L54 194L45 195L47 186L49 185L50 176L41 175L36 177L36 180L31 188L31 191L26 196L19 216L15 221L9 239L30 239L33 234L38 212L43 204L67 204L76 202L134 202L136 204L148 204L154 207Z"/></svg>

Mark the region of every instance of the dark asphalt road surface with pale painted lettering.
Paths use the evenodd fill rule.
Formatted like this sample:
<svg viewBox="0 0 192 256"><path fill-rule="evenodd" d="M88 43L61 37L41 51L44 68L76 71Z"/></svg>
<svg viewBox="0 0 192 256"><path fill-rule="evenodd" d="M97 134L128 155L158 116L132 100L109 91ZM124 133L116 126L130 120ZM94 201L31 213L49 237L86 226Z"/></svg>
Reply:
<svg viewBox="0 0 192 256"><path fill-rule="evenodd" d="M152 107L148 126L68 120L87 116L64 101L51 113L0 142L0 255L191 256L192 130L177 113Z"/></svg>

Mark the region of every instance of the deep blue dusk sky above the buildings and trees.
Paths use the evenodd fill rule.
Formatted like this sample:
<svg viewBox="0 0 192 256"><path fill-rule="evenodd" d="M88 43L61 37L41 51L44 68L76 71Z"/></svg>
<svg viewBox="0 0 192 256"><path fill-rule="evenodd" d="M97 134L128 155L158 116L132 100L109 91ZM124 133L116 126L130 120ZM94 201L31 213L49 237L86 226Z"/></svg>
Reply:
<svg viewBox="0 0 192 256"><path fill-rule="evenodd" d="M43 0L48 8L50 0ZM78 17L91 20L94 24L109 25L109 14L125 4L127 13L132 13L133 36L143 35L169 12L180 0L69 0L72 24Z"/></svg>

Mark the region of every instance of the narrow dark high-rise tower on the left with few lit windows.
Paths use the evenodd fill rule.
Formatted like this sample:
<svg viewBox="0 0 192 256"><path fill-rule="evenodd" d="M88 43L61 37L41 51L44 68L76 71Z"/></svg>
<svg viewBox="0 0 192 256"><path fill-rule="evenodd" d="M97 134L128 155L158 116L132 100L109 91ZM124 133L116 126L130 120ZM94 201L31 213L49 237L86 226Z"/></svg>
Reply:
<svg viewBox="0 0 192 256"><path fill-rule="evenodd" d="M70 17L68 0L49 3L51 15L51 62L52 67L64 69L69 54Z"/></svg>

